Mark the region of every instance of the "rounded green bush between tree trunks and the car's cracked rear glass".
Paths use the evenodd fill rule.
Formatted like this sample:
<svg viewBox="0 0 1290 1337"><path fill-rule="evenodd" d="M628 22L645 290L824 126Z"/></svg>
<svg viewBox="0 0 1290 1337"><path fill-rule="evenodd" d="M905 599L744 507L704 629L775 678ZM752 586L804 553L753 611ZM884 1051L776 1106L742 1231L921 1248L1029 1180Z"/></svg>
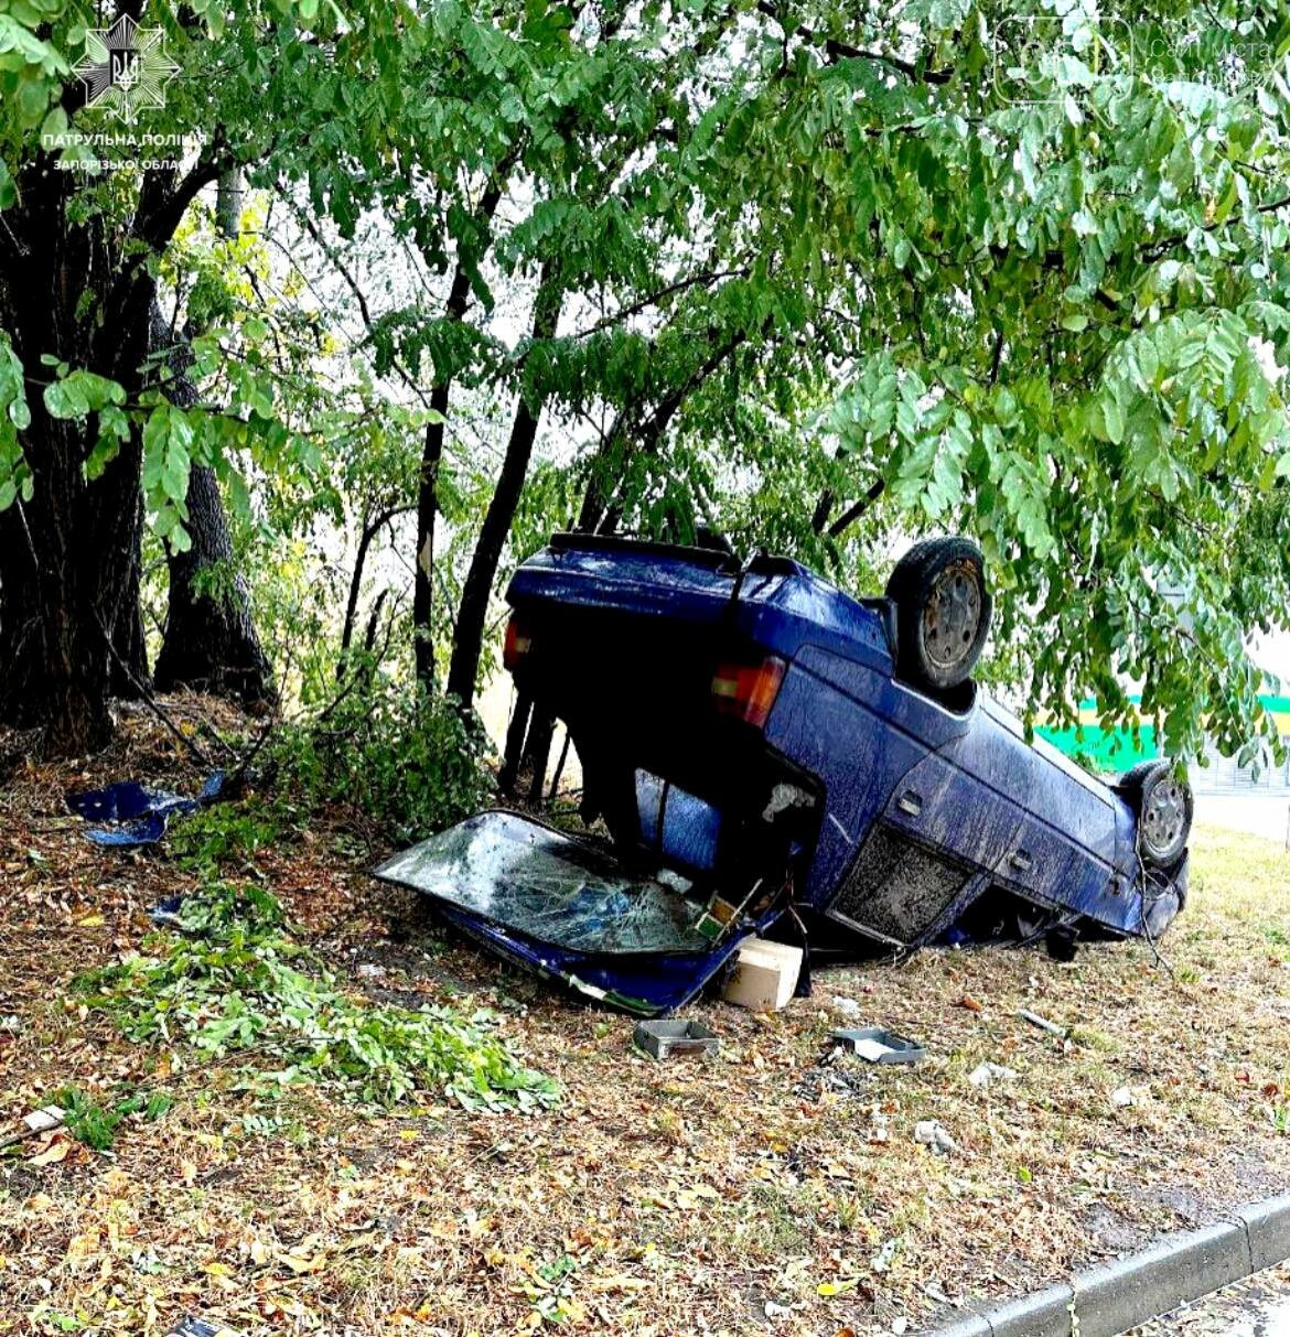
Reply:
<svg viewBox="0 0 1290 1337"><path fill-rule="evenodd" d="M485 755L481 726L453 701L380 679L285 730L270 759L305 796L353 802L393 840L408 841L484 805Z"/></svg>

